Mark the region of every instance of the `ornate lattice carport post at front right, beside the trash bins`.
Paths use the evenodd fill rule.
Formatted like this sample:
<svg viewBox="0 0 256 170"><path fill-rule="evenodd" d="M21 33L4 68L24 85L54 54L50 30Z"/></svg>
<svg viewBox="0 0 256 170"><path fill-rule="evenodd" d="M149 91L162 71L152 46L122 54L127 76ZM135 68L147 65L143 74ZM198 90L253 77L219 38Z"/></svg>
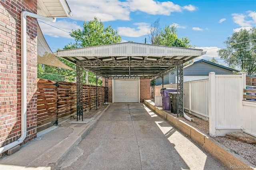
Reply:
<svg viewBox="0 0 256 170"><path fill-rule="evenodd" d="M177 117L184 113L184 95L183 95L183 60L177 62Z"/></svg>

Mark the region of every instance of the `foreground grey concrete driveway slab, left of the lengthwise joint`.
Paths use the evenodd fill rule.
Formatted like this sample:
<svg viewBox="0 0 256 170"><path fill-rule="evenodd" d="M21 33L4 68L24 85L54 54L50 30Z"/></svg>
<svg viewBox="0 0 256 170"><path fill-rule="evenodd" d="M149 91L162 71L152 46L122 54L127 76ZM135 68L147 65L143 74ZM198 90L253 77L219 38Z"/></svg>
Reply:
<svg viewBox="0 0 256 170"><path fill-rule="evenodd" d="M79 161L63 170L138 170L140 153L135 138L84 139L78 145L83 150ZM61 166L61 164L60 164Z"/></svg>

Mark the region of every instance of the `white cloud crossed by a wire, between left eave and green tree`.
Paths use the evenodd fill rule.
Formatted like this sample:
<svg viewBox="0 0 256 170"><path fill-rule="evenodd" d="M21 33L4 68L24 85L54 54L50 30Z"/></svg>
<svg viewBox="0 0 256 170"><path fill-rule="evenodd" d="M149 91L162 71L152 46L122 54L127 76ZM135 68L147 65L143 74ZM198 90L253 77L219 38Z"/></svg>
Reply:
<svg viewBox="0 0 256 170"><path fill-rule="evenodd" d="M73 39L72 37L70 37L68 32L71 32L72 29L73 30L77 30L78 28L80 30L83 29L81 26L78 26L76 24L76 22L67 22L66 20L59 20L56 22L43 21L43 22L38 22L38 23L39 23L42 33L44 35L48 35L48 36L55 37L55 38L63 37L63 38ZM54 27L56 27L56 28L54 28Z"/></svg>

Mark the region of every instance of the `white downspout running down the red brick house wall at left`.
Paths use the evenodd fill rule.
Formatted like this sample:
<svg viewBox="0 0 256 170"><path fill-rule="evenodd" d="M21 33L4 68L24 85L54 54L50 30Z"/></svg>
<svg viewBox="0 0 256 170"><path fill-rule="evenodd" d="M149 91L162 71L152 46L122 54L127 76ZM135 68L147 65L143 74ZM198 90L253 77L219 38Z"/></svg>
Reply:
<svg viewBox="0 0 256 170"><path fill-rule="evenodd" d="M27 38L26 38L26 17L38 18L50 22L55 22L56 18L47 18L31 12L23 11L21 16L21 136L18 140L0 148L0 154L21 144L27 136Z"/></svg>

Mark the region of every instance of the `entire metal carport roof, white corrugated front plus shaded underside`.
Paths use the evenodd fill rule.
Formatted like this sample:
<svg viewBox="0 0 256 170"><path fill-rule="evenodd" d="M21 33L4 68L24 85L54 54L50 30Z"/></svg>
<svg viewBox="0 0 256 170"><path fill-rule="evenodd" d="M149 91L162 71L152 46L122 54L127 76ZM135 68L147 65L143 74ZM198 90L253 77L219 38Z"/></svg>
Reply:
<svg viewBox="0 0 256 170"><path fill-rule="evenodd" d="M178 60L187 62L204 53L202 49L124 42L56 54L73 63L82 61L83 69L102 77L152 78L175 69Z"/></svg>

